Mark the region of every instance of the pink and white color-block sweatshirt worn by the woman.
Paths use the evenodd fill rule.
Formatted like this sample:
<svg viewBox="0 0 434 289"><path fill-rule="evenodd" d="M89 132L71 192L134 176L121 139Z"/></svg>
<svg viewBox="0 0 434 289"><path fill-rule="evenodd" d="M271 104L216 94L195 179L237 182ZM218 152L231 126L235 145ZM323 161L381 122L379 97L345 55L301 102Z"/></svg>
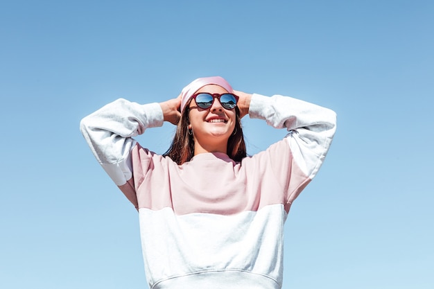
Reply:
<svg viewBox="0 0 434 289"><path fill-rule="evenodd" d="M158 103L119 99L81 121L96 159L139 211L151 289L281 288L284 222L324 161L336 114L254 94L249 115L288 134L241 163L210 152L181 166L132 138L163 124Z"/></svg>

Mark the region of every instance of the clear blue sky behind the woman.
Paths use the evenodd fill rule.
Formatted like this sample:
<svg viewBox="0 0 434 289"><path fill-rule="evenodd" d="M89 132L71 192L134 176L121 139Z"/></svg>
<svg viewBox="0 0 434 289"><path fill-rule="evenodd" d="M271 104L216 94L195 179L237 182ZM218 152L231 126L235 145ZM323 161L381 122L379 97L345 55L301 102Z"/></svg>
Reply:
<svg viewBox="0 0 434 289"><path fill-rule="evenodd" d="M201 76L335 110L284 288L434 288L434 1L0 3L0 288L148 288L137 211L79 122ZM284 130L243 119L248 152ZM139 142L162 153L173 125Z"/></svg>

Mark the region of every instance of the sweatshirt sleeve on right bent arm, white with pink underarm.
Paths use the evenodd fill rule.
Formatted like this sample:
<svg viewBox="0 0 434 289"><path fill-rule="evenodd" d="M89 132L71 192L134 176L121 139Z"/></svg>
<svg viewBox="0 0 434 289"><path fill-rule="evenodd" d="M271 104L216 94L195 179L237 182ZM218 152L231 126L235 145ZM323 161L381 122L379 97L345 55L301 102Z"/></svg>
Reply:
<svg viewBox="0 0 434 289"><path fill-rule="evenodd" d="M284 142L290 148L289 155L279 151L279 145L268 148L266 155L279 182L286 188L286 200L290 204L324 162L336 132L336 113L288 96L253 94L249 116L288 130Z"/></svg>

